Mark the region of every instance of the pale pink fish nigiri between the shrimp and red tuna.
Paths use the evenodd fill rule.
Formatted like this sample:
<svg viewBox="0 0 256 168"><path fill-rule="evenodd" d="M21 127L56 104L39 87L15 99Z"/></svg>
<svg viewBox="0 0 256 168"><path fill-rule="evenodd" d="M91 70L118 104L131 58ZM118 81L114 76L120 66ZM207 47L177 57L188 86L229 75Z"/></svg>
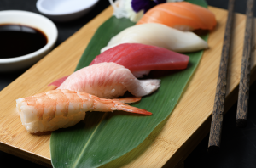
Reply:
<svg viewBox="0 0 256 168"><path fill-rule="evenodd" d="M58 89L87 92L100 98L118 98L127 90L136 97L143 97L159 87L160 80L137 80L122 65L100 63L74 72Z"/></svg>

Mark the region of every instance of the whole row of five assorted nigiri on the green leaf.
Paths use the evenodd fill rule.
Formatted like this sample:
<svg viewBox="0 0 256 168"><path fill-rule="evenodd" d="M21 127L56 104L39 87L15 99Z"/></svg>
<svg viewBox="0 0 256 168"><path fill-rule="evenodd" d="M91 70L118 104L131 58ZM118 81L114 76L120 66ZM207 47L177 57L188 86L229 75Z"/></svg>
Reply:
<svg viewBox="0 0 256 168"><path fill-rule="evenodd" d="M168 8L166 5L158 6L156 10L154 9L157 12L149 10L137 25L114 36L90 66L74 72L67 79L65 78L64 82L61 81L58 89L17 99L16 107L22 124L29 132L43 132L73 126L79 120L84 120L86 111L124 110L151 115L145 109L137 109L125 104L139 101L140 98L105 98L117 98L126 91L136 97L148 95L160 87L160 80L138 80L136 77L148 74L150 70L185 69L189 57L181 53L208 48L207 42L195 33L178 31L174 28L212 29L216 25L214 16L205 14L199 17L200 15L191 12L190 9L200 13L202 11L206 13L207 9L189 6L188 3L180 4L182 6L177 3L168 4L170 6ZM172 12L169 11L170 8ZM185 17L177 14L183 10L189 10L191 14L188 11L182 12L188 14ZM168 13L172 17L179 15L178 17L185 18L188 25L180 24L183 20L181 22L172 20L170 24L169 20L166 21L163 17L157 18L160 13ZM208 20L209 18L212 19ZM195 24L191 25L190 22Z"/></svg>

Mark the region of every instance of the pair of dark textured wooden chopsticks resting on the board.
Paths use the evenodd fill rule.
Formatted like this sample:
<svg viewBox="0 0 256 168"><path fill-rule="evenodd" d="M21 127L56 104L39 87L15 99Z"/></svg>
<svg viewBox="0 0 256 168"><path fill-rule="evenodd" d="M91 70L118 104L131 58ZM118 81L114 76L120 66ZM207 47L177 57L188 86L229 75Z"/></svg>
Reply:
<svg viewBox="0 0 256 168"><path fill-rule="evenodd" d="M224 45L221 54L221 60L218 71L218 83L216 88L213 112L212 125L210 130L210 137L208 143L208 152L211 154L217 153L219 150L222 123L224 115L224 99L226 94L228 60L230 54L230 37L233 25L233 11L235 0L229 1L229 14L226 23L224 34ZM247 0L247 21L246 31L244 36L244 46L241 63L241 78L239 83L239 96L236 113L236 126L247 126L247 107L249 98L249 84L250 84L250 60L251 60L251 44L253 31L253 0Z"/></svg>

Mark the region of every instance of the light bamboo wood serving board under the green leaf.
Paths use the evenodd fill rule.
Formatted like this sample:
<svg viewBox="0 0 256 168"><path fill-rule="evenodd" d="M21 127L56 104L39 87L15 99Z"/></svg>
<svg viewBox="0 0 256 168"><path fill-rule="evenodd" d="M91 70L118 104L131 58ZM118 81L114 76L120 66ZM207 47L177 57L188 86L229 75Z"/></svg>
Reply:
<svg viewBox="0 0 256 168"><path fill-rule="evenodd" d="M141 145L125 154L125 157L119 158L116 161L117 167L174 167L183 161L209 132L227 20L226 10L213 7L209 9L215 14L218 25L210 33L210 48L204 52L201 63L177 107L166 122L154 129ZM47 87L50 82L73 73L90 38L112 14L111 7L105 9L0 92L0 150L50 166L50 132L27 132L15 111L15 99L50 90L52 87ZM246 18L243 14L236 14L235 18L225 109L229 109L236 102L241 70ZM256 67L254 50L253 46L251 76L255 75ZM143 152L134 155L135 150Z"/></svg>

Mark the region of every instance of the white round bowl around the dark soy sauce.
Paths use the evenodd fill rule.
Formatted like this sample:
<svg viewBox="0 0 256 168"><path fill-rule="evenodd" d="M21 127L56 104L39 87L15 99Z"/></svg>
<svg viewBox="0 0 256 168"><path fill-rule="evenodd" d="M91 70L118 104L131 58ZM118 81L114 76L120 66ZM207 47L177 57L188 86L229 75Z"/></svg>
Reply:
<svg viewBox="0 0 256 168"><path fill-rule="evenodd" d="M33 53L15 58L0 59L0 72L28 68L49 53L57 40L58 31L55 24L40 14L20 10L0 11L0 25L3 24L27 25L43 31L47 36L47 44Z"/></svg>

